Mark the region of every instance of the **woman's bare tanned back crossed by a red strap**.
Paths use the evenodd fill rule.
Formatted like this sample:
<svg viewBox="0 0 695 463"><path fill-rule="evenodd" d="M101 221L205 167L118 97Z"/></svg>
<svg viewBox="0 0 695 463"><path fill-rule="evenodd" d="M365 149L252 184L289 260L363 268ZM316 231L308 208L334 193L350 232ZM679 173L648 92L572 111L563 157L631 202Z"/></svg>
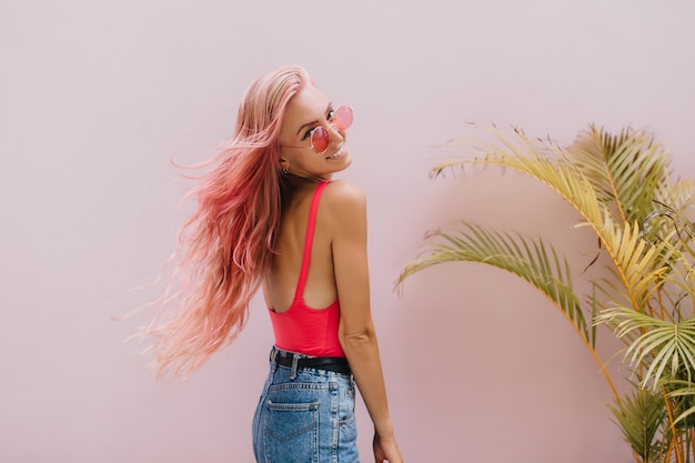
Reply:
<svg viewBox="0 0 695 463"><path fill-rule="evenodd" d="M263 295L269 309L285 312L294 299L302 266L302 253L312 194L316 183L298 188L283 212L275 241L276 254L263 282ZM312 309L326 309L338 299L331 228L325 223L323 205L319 203L311 264L304 286L304 303Z"/></svg>

